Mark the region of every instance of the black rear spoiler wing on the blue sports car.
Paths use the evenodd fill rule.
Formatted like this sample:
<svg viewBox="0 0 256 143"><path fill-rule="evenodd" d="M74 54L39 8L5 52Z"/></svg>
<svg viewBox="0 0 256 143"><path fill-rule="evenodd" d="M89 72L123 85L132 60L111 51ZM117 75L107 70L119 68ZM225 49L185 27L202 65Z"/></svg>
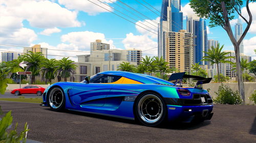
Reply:
<svg viewBox="0 0 256 143"><path fill-rule="evenodd" d="M173 73L170 75L168 81L174 81L174 84L177 85L180 83L180 86L182 87L182 80L183 78L191 78L193 80L198 80L197 84L195 85L195 88L202 88L202 84L209 83L212 78L205 78L201 76L195 76L195 75L187 75L186 72L180 72L180 73Z"/></svg>

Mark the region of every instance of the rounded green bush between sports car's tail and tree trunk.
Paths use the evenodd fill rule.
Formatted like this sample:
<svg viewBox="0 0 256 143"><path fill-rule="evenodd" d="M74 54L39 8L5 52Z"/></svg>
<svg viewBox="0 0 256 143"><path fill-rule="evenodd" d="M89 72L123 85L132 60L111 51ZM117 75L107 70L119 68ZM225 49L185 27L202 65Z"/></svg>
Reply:
<svg viewBox="0 0 256 143"><path fill-rule="evenodd" d="M238 91L233 92L229 87L227 87L224 84L221 84L218 93L217 98L213 99L215 103L219 104L241 104L242 99L239 96Z"/></svg>

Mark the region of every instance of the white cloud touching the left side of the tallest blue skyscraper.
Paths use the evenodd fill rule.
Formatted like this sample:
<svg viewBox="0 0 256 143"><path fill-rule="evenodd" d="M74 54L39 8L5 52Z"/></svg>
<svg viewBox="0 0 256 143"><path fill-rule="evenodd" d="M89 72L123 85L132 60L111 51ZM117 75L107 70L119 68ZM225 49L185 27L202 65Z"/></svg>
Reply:
<svg viewBox="0 0 256 143"><path fill-rule="evenodd" d="M122 41L122 43L124 44L125 49L141 49L143 55L157 56L157 42L148 38L147 35L134 35L133 33L129 33L126 34L126 38Z"/></svg>

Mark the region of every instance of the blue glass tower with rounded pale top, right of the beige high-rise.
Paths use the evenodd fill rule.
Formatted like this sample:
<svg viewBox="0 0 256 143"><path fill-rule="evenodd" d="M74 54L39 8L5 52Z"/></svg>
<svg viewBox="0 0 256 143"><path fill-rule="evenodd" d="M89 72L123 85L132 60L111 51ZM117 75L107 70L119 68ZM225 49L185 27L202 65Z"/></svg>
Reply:
<svg viewBox="0 0 256 143"><path fill-rule="evenodd" d="M192 33L194 37L194 62L200 65L206 65L203 60L205 56L203 51L207 51L207 30L205 20L195 14L188 14L186 18L187 32Z"/></svg>

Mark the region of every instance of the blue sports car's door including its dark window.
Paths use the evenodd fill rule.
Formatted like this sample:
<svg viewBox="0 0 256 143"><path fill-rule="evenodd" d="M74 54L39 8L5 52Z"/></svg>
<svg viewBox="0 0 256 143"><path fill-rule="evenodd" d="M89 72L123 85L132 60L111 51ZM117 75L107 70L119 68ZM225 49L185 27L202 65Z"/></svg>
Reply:
<svg viewBox="0 0 256 143"><path fill-rule="evenodd" d="M114 85L110 83L115 80L118 79L114 75L96 74L90 83L78 83L69 90L71 101L82 107L103 106Z"/></svg>

